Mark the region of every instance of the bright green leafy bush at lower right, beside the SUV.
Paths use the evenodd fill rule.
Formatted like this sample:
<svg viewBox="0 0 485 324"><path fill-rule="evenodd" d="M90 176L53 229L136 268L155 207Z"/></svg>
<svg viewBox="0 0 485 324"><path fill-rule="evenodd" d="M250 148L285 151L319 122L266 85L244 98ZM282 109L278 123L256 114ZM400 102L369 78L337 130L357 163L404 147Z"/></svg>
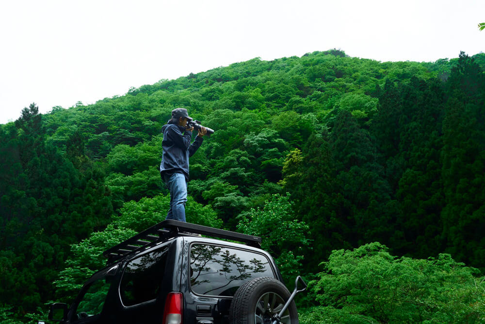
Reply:
<svg viewBox="0 0 485 324"><path fill-rule="evenodd" d="M373 323L484 321L485 277L477 269L447 254L426 260L398 258L387 250L374 242L333 251L320 278L310 283L325 306L316 310L346 313L346 320L362 315L359 321Z"/></svg>

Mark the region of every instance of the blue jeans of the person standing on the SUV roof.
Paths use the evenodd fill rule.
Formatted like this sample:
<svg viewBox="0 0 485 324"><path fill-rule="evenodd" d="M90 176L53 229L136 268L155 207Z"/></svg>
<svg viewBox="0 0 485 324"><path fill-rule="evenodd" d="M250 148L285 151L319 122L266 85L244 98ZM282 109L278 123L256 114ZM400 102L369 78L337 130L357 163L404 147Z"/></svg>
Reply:
<svg viewBox="0 0 485 324"><path fill-rule="evenodd" d="M185 175L174 173L163 180L170 191L170 209L165 220L185 222L185 203L187 202L187 182Z"/></svg>

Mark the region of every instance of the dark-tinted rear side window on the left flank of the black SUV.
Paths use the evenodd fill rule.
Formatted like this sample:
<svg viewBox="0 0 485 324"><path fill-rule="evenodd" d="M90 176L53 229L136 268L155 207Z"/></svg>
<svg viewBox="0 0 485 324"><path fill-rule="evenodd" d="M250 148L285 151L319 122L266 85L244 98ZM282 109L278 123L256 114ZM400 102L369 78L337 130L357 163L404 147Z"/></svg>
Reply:
<svg viewBox="0 0 485 324"><path fill-rule="evenodd" d="M123 305L133 306L157 298L167 260L168 245L127 264L120 283Z"/></svg>

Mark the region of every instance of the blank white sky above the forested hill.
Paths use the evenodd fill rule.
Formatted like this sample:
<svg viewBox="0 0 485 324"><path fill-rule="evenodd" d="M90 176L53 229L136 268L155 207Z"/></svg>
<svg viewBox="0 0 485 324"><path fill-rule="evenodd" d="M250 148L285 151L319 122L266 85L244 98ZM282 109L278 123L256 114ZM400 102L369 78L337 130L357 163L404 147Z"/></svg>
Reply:
<svg viewBox="0 0 485 324"><path fill-rule="evenodd" d="M485 0L0 0L0 123L255 57L474 55L479 22Z"/></svg>

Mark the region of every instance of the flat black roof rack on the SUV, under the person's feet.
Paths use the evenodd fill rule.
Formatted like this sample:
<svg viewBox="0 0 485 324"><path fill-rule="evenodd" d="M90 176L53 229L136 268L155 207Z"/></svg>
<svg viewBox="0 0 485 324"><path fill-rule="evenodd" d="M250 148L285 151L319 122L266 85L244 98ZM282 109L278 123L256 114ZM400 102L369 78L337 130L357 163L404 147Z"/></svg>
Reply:
<svg viewBox="0 0 485 324"><path fill-rule="evenodd" d="M108 258L107 263L110 264L124 256L144 250L170 238L176 236L194 236L198 234L219 239L230 239L257 248L261 247L261 238L258 236L246 235L193 223L165 220L104 251L103 256Z"/></svg>

